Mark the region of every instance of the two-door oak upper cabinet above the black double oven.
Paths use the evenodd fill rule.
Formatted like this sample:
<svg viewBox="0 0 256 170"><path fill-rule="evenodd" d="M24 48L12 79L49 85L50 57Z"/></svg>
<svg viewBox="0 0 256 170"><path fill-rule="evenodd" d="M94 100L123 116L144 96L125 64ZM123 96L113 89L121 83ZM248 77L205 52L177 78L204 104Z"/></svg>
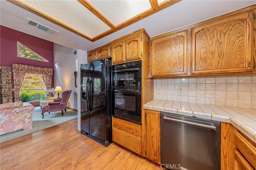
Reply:
<svg viewBox="0 0 256 170"><path fill-rule="evenodd" d="M145 39L148 40L149 36L144 29L140 29L110 42L112 46L112 64L142 60Z"/></svg>

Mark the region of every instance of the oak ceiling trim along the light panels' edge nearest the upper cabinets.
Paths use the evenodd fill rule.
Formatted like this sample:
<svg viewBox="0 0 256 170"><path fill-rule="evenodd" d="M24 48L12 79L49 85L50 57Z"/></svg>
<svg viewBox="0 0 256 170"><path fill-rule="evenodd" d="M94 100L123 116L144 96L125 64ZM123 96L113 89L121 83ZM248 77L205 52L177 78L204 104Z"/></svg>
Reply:
<svg viewBox="0 0 256 170"><path fill-rule="evenodd" d="M134 16L133 18L130 18L129 20L117 25L116 28L113 28L111 30L103 32L102 34L92 38L92 42L94 42L96 40L99 40L100 38L103 38L105 36L108 36L109 34L112 34L113 32L121 30L122 28L125 28L125 27L127 27L131 24L134 24L135 22L138 22L138 21L140 21L140 20L142 20L142 19L144 19L144 18L146 18L146 17L148 17L152 14L155 14L156 12L159 12L160 10L163 10L163 9L169 7L169 6L172 6L172 5L174 5L174 4L176 4L180 1L182 1L182 0L166 0L162 3L160 3L156 8L151 8L149 10L146 10L146 11Z"/></svg>

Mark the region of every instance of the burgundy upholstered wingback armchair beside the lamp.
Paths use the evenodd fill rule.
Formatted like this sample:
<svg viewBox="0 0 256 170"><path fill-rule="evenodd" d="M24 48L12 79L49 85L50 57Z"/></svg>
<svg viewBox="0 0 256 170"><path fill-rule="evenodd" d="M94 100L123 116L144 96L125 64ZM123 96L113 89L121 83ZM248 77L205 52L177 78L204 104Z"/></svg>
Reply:
<svg viewBox="0 0 256 170"><path fill-rule="evenodd" d="M45 112L55 112L55 111L61 111L61 115L63 115L63 110L66 111L66 106L68 104L68 99L70 97L72 90L66 90L62 92L62 100L61 101L54 101L54 102L49 102L48 106L42 107L42 115L44 118L44 113Z"/></svg>

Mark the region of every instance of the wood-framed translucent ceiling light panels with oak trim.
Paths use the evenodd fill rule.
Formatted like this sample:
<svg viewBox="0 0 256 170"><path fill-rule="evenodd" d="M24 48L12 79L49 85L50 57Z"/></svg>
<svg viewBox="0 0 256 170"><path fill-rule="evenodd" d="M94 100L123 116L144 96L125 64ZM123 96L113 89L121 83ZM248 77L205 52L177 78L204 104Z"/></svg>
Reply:
<svg viewBox="0 0 256 170"><path fill-rule="evenodd" d="M181 0L8 0L95 41Z"/></svg>

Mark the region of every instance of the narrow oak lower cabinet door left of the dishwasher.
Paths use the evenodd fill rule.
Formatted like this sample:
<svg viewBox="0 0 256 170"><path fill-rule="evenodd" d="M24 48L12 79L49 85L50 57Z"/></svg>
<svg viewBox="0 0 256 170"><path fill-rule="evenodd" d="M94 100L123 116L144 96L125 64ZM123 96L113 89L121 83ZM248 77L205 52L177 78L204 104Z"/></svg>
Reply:
<svg viewBox="0 0 256 170"><path fill-rule="evenodd" d="M146 158L160 164L160 112L146 110Z"/></svg>

